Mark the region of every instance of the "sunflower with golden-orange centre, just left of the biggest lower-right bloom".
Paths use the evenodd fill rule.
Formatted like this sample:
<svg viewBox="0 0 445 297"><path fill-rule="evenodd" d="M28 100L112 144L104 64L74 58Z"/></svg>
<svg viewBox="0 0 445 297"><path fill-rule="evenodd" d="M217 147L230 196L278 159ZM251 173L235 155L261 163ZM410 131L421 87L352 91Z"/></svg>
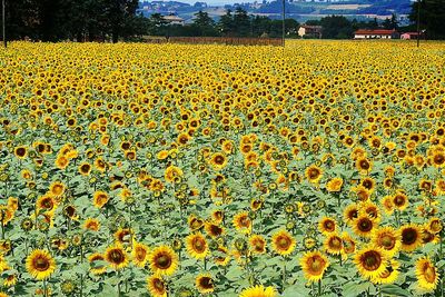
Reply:
<svg viewBox="0 0 445 297"><path fill-rule="evenodd" d="M323 278L323 275L329 266L329 260L325 255L318 250L315 250L303 255L299 264L303 268L303 273L305 274L305 278L313 283Z"/></svg>

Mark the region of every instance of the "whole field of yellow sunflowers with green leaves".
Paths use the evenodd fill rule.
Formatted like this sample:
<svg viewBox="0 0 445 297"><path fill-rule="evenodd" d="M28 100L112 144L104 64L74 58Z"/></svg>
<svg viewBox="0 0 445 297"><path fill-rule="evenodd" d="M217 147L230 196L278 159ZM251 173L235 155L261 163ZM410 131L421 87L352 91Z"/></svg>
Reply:
<svg viewBox="0 0 445 297"><path fill-rule="evenodd" d="M12 42L0 296L444 296L445 43Z"/></svg>

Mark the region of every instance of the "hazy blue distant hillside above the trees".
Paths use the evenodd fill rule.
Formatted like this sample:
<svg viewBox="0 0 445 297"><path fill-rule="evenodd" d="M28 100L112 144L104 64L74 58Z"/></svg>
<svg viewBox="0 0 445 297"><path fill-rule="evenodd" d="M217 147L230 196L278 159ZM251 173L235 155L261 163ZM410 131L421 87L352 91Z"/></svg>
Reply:
<svg viewBox="0 0 445 297"><path fill-rule="evenodd" d="M207 11L210 17L218 19L225 9L235 10L241 7L248 13L267 16L269 18L280 18L281 0L250 3L226 4L224 7L209 6L204 1L195 4L178 1L145 1L139 8L145 16L158 12L162 14L177 14L186 21L191 21L194 13L199 10ZM407 14L411 11L411 0L286 0L286 14L298 21L308 19L320 19L326 16L336 14L355 18L357 20L366 18L386 19L393 13L398 17L402 23L407 22Z"/></svg>

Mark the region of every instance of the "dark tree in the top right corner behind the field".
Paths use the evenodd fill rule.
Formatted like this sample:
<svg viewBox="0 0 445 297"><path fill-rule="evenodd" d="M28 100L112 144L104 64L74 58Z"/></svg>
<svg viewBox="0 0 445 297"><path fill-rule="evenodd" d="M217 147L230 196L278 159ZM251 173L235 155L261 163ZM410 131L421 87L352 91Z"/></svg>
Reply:
<svg viewBox="0 0 445 297"><path fill-rule="evenodd" d="M421 9L421 30L426 30L428 38L444 39L445 0L417 0L413 2L409 20L414 23L417 23L418 8Z"/></svg>

